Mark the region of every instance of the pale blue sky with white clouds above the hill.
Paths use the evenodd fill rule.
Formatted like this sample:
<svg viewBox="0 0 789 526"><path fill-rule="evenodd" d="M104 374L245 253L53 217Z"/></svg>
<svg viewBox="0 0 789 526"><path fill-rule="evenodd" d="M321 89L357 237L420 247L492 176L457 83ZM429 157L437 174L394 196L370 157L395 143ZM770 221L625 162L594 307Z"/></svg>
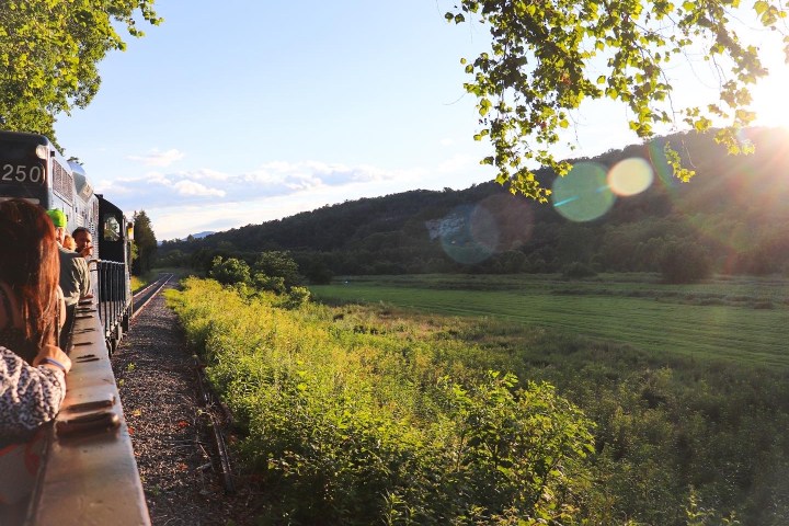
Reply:
<svg viewBox="0 0 789 526"><path fill-rule="evenodd" d="M94 100L55 128L96 192L129 216L145 210L159 240L495 176L479 164L491 150L472 138L460 65L489 35L447 24L445 0L156 5L164 22L111 53ZM777 66L755 108L781 125L789 75L779 47L766 49ZM674 75L689 99L704 93L697 71ZM582 106L564 157L639 142L627 118L613 103Z"/></svg>

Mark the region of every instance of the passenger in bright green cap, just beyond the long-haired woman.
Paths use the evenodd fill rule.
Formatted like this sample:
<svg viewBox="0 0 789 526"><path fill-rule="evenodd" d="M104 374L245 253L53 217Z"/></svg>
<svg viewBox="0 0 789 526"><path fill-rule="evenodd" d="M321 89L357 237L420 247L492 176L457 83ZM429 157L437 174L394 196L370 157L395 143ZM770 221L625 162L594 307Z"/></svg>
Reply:
<svg viewBox="0 0 789 526"><path fill-rule="evenodd" d="M92 298L90 274L88 262L77 252L62 247L66 237L66 214L62 210L48 210L47 215L55 226L55 238L59 245L60 254L60 288L66 298L66 330L60 338L61 346L65 346L67 335L71 332L75 310L80 299Z"/></svg>

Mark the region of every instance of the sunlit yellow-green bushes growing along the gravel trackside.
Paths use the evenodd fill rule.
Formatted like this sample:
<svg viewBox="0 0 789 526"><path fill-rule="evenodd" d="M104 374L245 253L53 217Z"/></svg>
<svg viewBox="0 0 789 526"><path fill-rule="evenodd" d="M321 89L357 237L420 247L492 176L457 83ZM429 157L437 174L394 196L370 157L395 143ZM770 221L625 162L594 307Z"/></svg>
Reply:
<svg viewBox="0 0 789 526"><path fill-rule="evenodd" d="M272 294L190 278L171 298L248 431L239 451L270 495L260 524L576 522L592 424L550 386L436 362L453 342L403 348L354 331L369 319L273 309Z"/></svg>

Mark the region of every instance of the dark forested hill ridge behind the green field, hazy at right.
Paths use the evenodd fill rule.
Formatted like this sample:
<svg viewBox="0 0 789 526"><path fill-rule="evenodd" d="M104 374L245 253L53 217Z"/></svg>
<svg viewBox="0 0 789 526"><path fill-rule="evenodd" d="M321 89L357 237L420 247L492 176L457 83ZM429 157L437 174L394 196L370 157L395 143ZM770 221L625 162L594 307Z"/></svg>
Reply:
<svg viewBox="0 0 789 526"><path fill-rule="evenodd" d="M165 241L160 260L207 268L215 255L251 261L259 252L283 250L313 281L329 274L567 272L569 266L658 272L671 256L701 274L784 272L789 261L789 133L754 128L743 138L753 141L754 155L728 156L711 135L688 134L576 159L599 165L597 175L584 171L588 178L604 176L620 161L642 159L653 182L631 196L615 197L605 182L594 195L588 185L575 193L565 188L562 199L554 195L562 214L492 182L462 191L416 190L204 239ZM696 170L689 183L670 175L666 140ZM551 184L552 174L538 175ZM581 204L584 192L592 201L598 197L591 211ZM597 209L601 199L613 202L607 211ZM567 214L573 207L583 220Z"/></svg>

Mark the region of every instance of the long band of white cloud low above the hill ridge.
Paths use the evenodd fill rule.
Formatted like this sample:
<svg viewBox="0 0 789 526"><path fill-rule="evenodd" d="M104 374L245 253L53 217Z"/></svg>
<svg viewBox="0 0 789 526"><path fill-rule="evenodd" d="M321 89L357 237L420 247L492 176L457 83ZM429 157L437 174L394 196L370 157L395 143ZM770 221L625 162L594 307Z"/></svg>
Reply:
<svg viewBox="0 0 789 526"><path fill-rule="evenodd" d="M433 168L397 170L277 161L235 174L211 169L151 171L102 181L99 191L122 209L145 209L155 222L157 238L174 239L416 187L468 187L489 179L483 170L468 155L448 158Z"/></svg>

